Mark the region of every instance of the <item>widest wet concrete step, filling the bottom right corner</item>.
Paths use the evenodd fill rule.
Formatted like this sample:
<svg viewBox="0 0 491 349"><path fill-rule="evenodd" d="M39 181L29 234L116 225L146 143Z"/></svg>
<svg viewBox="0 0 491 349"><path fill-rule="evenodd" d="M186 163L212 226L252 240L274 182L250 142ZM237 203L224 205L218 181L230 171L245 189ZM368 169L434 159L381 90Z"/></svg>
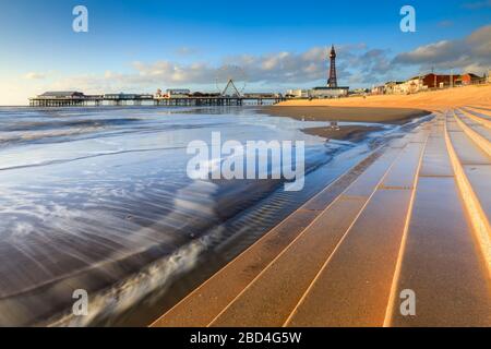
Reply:
<svg viewBox="0 0 491 349"><path fill-rule="evenodd" d="M459 196L444 132L441 118L424 151L386 326L491 324L490 279ZM415 316L402 314L405 290L416 297Z"/></svg>

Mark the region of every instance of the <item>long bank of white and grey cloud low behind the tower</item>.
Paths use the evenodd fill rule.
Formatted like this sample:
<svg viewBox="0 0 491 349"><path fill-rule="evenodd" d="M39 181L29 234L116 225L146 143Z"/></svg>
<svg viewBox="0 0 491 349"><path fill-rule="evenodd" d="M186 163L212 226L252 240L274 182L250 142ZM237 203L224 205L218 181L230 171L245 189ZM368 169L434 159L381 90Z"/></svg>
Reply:
<svg viewBox="0 0 491 349"><path fill-rule="evenodd" d="M170 60L132 63L127 73L69 76L50 84L50 89L79 89L85 93L152 92L167 87L215 88L217 77L224 79L227 67L238 67L239 79L248 85L282 89L326 82L328 47L306 51L278 51L264 55L224 57L218 64L205 61L178 63ZM491 67L491 25L481 27L466 38L442 40L392 55L391 50L370 48L364 44L336 46L338 79L343 85L368 85L430 70L463 70L482 73ZM236 72L237 72L236 71ZM233 75L230 77L237 77ZM40 77L35 73L31 79ZM228 75L227 75L228 77ZM201 86L201 87L200 87Z"/></svg>

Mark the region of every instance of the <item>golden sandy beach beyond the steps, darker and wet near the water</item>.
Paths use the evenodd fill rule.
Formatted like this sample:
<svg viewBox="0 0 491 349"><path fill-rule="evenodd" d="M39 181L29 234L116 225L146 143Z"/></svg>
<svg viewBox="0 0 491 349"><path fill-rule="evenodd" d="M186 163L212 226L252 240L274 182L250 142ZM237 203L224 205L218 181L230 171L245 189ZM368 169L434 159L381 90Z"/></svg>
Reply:
<svg viewBox="0 0 491 349"><path fill-rule="evenodd" d="M455 87L414 95L383 95L340 99L296 99L266 107L267 113L304 121L350 121L403 124L433 111L462 106L491 107L491 85ZM367 125L313 128L306 133L357 142L376 131Z"/></svg>

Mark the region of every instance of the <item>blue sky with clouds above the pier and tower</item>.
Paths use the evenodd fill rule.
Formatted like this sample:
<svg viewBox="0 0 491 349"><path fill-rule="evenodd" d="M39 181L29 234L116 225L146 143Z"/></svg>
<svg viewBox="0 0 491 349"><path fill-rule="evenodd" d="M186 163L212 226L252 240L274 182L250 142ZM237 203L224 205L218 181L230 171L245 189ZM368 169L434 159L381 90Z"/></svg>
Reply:
<svg viewBox="0 0 491 349"><path fill-rule="evenodd" d="M416 10L403 33L400 9ZM75 33L76 5L88 32ZM339 84L371 87L426 72L491 68L491 0L0 0L0 105L45 91L249 92Z"/></svg>

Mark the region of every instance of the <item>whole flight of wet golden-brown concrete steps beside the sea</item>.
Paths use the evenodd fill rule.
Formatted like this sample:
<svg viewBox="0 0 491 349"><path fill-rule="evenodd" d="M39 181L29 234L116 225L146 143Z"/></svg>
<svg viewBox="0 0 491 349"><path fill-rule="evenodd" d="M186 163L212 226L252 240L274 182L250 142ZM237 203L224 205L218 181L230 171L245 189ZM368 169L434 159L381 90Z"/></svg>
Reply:
<svg viewBox="0 0 491 349"><path fill-rule="evenodd" d="M489 129L462 110L342 177L153 326L491 326Z"/></svg>

